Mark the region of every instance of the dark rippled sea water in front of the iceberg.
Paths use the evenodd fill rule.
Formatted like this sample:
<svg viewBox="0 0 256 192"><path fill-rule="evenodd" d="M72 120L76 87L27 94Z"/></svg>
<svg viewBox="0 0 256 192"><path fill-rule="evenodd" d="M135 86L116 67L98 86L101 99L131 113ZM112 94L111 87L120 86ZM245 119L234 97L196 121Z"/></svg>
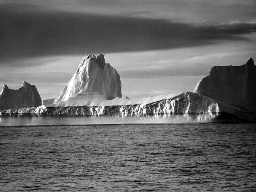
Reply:
<svg viewBox="0 0 256 192"><path fill-rule="evenodd" d="M0 127L0 189L256 190L256 124Z"/></svg>

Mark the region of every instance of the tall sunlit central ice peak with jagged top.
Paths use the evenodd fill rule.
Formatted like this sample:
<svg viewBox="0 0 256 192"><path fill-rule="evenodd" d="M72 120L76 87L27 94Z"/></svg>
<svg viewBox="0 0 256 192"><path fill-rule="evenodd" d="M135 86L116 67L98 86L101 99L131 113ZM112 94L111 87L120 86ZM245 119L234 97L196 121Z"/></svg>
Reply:
<svg viewBox="0 0 256 192"><path fill-rule="evenodd" d="M78 70L54 103L67 100L81 93L98 92L121 97L121 81L116 69L105 63L104 55L87 55Z"/></svg>

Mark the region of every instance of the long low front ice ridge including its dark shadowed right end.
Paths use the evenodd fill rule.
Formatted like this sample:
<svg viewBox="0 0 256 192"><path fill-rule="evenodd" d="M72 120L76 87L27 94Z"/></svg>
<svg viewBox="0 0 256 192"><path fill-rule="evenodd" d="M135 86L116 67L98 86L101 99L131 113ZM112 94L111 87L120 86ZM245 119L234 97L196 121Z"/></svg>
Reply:
<svg viewBox="0 0 256 192"><path fill-rule="evenodd" d="M198 114L198 118L214 118L215 114L229 113L244 121L256 121L256 113L245 111L225 102L217 101L197 93L184 92L170 99L151 103L110 106L39 106L34 108L9 109L0 115L42 114L47 116L151 116L165 114ZM204 115L205 114L205 115Z"/></svg>

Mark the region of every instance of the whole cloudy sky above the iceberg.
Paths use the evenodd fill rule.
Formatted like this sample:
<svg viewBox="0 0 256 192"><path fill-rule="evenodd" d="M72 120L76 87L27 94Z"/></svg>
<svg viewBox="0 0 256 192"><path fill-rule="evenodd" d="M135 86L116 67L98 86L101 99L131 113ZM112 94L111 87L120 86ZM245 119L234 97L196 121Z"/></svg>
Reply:
<svg viewBox="0 0 256 192"><path fill-rule="evenodd" d="M88 54L105 54L135 98L193 91L255 50L255 0L0 0L0 84L25 80L42 99Z"/></svg>

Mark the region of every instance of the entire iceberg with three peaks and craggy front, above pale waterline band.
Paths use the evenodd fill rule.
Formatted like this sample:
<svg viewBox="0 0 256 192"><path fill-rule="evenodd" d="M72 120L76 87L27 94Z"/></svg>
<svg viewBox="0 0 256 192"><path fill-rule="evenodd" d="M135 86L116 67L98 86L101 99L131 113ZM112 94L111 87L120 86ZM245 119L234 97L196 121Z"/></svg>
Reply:
<svg viewBox="0 0 256 192"><path fill-rule="evenodd" d="M228 115L241 121L256 121L256 66L252 58L241 66L212 67L208 76L198 82L193 93L139 99L122 97L120 76L105 62L103 54L84 57L60 96L44 100L44 105L35 86L23 88L22 91L12 90L8 94L5 87L0 95L1 116L40 114L49 117L124 118L168 114L184 118L191 115L200 122L202 118Z"/></svg>

